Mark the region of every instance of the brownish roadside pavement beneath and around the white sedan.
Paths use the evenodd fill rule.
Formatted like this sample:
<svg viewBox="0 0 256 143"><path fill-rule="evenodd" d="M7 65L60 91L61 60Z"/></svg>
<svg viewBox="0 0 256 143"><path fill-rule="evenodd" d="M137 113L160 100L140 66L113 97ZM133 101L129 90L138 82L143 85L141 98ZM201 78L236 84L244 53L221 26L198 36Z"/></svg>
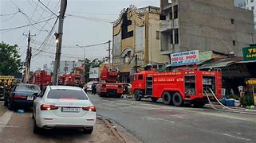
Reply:
<svg viewBox="0 0 256 143"><path fill-rule="evenodd" d="M101 142L118 143L104 122L97 120L92 134L84 134L79 129L45 129L44 133L33 133L31 110L18 114L6 110L0 103L0 142L1 143L41 143L41 142Z"/></svg>

